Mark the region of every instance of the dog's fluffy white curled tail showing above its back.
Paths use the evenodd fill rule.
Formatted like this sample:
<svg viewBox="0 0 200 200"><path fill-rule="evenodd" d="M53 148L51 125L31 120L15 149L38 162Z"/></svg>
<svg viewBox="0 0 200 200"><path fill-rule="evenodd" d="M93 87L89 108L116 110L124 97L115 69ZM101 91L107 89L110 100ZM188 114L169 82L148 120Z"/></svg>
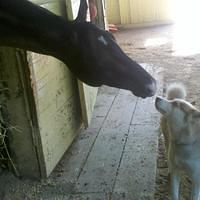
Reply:
<svg viewBox="0 0 200 200"><path fill-rule="evenodd" d="M187 96L186 89L181 83L172 83L167 87L167 99L172 100L175 98L185 99Z"/></svg>

